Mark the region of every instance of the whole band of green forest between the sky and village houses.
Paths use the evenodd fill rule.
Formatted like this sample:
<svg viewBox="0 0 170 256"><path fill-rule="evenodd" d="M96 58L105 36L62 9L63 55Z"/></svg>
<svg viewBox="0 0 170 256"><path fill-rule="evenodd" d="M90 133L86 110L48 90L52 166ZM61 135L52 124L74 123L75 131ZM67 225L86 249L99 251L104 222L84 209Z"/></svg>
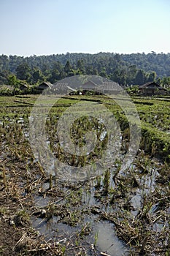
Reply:
<svg viewBox="0 0 170 256"><path fill-rule="evenodd" d="M170 53L66 53L50 56L0 56L0 84L55 83L72 75L101 75L122 86L152 80L170 84Z"/></svg>

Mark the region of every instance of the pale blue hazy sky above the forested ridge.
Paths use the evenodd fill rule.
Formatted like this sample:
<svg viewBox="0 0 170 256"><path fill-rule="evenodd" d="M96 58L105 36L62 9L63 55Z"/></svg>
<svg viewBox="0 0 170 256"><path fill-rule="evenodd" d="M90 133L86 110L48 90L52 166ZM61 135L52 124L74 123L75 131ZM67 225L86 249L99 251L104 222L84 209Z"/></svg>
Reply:
<svg viewBox="0 0 170 256"><path fill-rule="evenodd" d="M169 0L0 0L0 54L170 52Z"/></svg>

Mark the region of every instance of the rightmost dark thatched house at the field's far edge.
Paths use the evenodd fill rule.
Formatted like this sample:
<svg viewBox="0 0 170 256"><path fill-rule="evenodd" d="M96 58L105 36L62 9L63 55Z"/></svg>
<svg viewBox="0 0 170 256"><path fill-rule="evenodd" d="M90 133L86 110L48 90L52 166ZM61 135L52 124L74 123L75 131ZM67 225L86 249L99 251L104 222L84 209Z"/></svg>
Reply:
<svg viewBox="0 0 170 256"><path fill-rule="evenodd" d="M144 95L166 94L166 91L166 89L155 82L148 82L139 86L139 93Z"/></svg>

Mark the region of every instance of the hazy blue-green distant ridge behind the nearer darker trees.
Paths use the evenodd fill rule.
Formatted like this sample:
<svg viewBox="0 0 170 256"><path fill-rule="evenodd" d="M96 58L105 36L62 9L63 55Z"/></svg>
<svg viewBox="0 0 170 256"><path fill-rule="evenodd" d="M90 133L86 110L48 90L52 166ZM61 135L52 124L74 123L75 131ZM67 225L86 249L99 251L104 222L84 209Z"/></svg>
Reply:
<svg viewBox="0 0 170 256"><path fill-rule="evenodd" d="M77 65L77 61L83 60L85 67L93 66L98 69L101 65L109 72L117 68L116 62L120 66L127 68L135 65L136 68L144 70L144 72L156 72L160 78L170 76L170 53L66 53L66 54L53 54L48 56L0 56L1 70L9 70L15 72L19 64L26 62L30 67L37 67L39 69L45 68L48 65L53 68L55 62L60 62L62 65L69 61L73 66Z"/></svg>

